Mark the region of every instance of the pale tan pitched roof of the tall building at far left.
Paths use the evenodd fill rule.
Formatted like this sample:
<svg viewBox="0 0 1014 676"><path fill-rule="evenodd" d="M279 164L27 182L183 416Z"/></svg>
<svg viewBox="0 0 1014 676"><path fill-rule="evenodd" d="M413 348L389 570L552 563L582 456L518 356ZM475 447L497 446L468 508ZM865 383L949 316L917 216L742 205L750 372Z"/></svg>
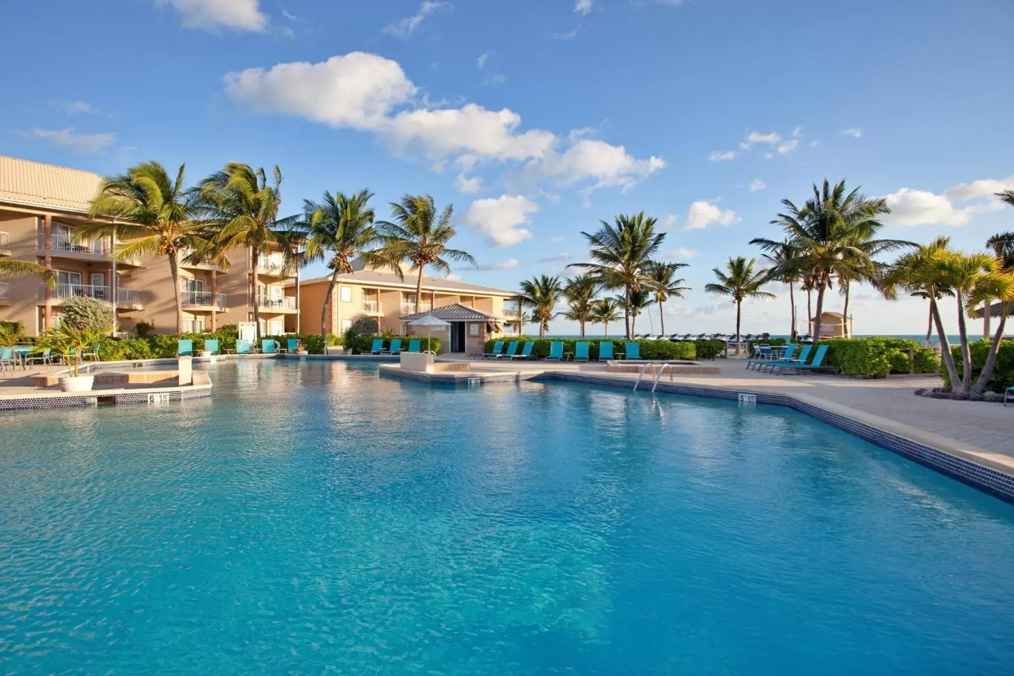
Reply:
<svg viewBox="0 0 1014 676"><path fill-rule="evenodd" d="M101 185L91 171L0 155L0 202L87 213Z"/></svg>

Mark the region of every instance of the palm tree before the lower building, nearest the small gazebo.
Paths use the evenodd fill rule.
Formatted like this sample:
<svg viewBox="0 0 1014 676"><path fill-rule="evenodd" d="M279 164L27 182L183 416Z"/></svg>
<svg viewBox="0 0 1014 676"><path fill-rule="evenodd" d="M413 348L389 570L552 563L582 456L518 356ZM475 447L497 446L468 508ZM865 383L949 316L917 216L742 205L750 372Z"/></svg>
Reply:
<svg viewBox="0 0 1014 676"><path fill-rule="evenodd" d="M438 214L436 204L429 195L406 195L401 202L390 203L390 211L395 222L379 221L377 225L384 235L386 255L397 260L409 259L412 261L409 272L419 272L416 280L416 312L419 312L426 266L450 273L445 256L473 266L476 259L467 251L447 246L457 234L450 222L454 205L447 205Z"/></svg>

